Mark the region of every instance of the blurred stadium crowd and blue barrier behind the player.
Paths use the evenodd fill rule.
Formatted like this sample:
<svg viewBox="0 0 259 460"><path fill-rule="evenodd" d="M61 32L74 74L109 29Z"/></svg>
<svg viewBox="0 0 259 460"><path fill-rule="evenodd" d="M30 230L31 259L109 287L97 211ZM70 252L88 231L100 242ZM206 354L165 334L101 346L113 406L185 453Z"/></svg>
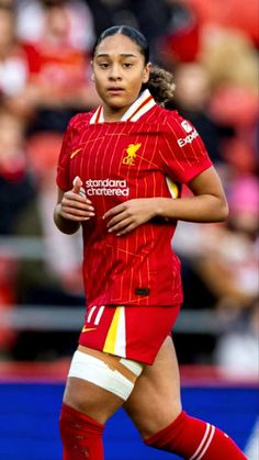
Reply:
<svg viewBox="0 0 259 460"><path fill-rule="evenodd" d="M94 38L122 23L172 71L168 109L202 135L230 205L226 223L180 223L173 242L183 403L258 460L258 0L0 0L0 457L61 456L57 418L85 301L80 235L53 225L55 167L68 120L99 103ZM108 460L123 442L125 460L172 458L143 446L123 412L105 442Z"/></svg>

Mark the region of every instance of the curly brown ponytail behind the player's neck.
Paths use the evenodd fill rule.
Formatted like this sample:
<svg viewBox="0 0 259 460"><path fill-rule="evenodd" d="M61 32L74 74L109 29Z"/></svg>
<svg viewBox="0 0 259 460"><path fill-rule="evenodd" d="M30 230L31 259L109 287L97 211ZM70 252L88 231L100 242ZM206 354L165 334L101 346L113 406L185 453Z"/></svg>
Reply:
<svg viewBox="0 0 259 460"><path fill-rule="evenodd" d="M165 106L173 98L176 89L173 76L162 68L154 66L150 70L149 80L143 85L142 89L148 89L155 101Z"/></svg>

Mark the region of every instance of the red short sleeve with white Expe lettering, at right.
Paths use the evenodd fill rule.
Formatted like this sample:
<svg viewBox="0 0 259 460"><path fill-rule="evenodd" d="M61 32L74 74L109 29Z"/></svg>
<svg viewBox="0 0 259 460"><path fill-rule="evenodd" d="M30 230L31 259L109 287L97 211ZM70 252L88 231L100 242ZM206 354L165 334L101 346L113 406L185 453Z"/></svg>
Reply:
<svg viewBox="0 0 259 460"><path fill-rule="evenodd" d="M212 166L198 131L178 112L168 113L160 149L162 170L180 183L190 182Z"/></svg>

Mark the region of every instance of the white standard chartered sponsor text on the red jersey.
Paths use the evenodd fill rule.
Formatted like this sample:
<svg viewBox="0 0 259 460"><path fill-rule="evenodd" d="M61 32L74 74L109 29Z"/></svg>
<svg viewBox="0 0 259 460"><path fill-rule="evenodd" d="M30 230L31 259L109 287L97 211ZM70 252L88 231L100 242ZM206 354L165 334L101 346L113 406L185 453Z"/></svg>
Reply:
<svg viewBox="0 0 259 460"><path fill-rule="evenodd" d="M88 179L86 180L86 191L89 197L92 195L123 195L128 197L130 189L126 179Z"/></svg>

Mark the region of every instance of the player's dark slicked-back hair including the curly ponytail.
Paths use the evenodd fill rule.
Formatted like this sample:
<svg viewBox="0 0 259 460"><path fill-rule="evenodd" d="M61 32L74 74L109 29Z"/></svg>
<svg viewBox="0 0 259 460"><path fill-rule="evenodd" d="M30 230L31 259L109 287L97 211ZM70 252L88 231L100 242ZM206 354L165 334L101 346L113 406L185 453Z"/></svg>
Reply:
<svg viewBox="0 0 259 460"><path fill-rule="evenodd" d="M131 38L140 49L144 56L145 65L149 63L149 46L146 37L137 29L130 25L114 25L109 27L101 33L92 48L92 57L94 57L97 47L100 43L111 35L122 34ZM173 98L174 83L172 75L158 67L153 66L149 75L149 79L143 85L142 91L148 89L154 97L155 101L165 106L165 104Z"/></svg>

